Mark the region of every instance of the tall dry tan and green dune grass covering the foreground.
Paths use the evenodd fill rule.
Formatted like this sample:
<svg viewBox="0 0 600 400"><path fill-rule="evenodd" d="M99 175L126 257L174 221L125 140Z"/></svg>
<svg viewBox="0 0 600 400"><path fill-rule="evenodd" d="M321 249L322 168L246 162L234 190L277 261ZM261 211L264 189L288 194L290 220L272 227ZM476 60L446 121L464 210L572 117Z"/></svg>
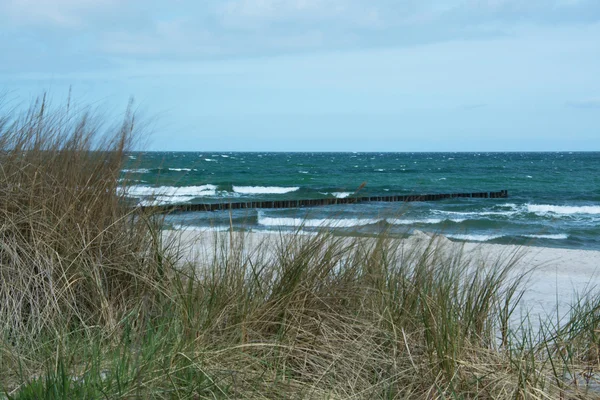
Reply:
<svg viewBox="0 0 600 400"><path fill-rule="evenodd" d="M534 324L518 254L385 232L215 234L190 260L118 189L134 114L99 122L44 100L0 117L6 397L600 397L600 298Z"/></svg>

